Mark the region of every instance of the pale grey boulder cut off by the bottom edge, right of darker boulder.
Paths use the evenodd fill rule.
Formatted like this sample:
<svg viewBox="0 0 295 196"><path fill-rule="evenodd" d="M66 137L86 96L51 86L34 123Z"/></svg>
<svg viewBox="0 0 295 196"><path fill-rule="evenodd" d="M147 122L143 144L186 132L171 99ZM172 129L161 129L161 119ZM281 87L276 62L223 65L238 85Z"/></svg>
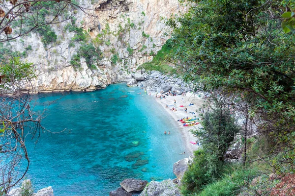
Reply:
<svg viewBox="0 0 295 196"><path fill-rule="evenodd" d="M178 186L171 179L151 181L139 196L180 196Z"/></svg>

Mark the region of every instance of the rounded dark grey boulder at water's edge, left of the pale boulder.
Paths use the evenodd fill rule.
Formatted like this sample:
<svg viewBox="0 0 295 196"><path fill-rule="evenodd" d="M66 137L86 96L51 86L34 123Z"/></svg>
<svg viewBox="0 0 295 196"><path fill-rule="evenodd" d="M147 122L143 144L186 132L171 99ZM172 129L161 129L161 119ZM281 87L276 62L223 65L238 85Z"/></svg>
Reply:
<svg viewBox="0 0 295 196"><path fill-rule="evenodd" d="M138 193L144 190L148 184L147 180L138 180L134 178L128 178L123 180L120 185L128 193Z"/></svg>

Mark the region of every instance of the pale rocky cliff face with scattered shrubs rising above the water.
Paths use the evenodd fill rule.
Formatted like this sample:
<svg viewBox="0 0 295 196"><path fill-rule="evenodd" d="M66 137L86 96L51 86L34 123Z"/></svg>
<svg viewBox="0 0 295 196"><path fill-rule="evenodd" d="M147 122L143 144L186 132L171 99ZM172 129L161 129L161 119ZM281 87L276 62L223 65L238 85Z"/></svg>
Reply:
<svg viewBox="0 0 295 196"><path fill-rule="evenodd" d="M76 20L53 25L56 42L44 46L32 32L9 43L21 53L31 48L25 60L36 67L36 91L95 90L129 80L169 38L161 17L183 11L178 0L84 0L80 5L92 11L78 9ZM76 34L67 29L69 24L84 29L88 42L102 52L91 65L84 57L78 67L71 62L82 44L73 41Z"/></svg>

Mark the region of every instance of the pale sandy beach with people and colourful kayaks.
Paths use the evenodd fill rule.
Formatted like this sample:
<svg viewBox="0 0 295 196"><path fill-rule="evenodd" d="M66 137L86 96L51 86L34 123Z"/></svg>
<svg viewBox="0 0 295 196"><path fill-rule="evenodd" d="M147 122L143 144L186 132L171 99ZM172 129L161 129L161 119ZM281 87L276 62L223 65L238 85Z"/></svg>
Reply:
<svg viewBox="0 0 295 196"><path fill-rule="evenodd" d="M158 94L159 95L159 94ZM154 95L155 97L155 95ZM174 99L176 100L176 107L174 106ZM186 151L185 154L191 155L193 151L198 149L198 145L193 145L190 142L198 141L198 138L193 136L189 130L195 129L197 127L201 127L200 124L195 126L183 126L183 123L177 122L177 120L183 117L200 117L199 116L199 108L202 107L204 101L203 99L199 98L197 95L187 93L186 96L177 95L177 96L166 96L166 98L157 98L155 99L166 111L167 113L173 118L176 127L178 127L179 132L181 133L182 141L184 142ZM190 105L193 103L194 105ZM166 107L168 105L168 108ZM183 105L184 107L179 107ZM175 107L177 111L173 112L171 109ZM184 108L187 108L187 113L184 111ZM189 113L194 112L195 114ZM168 132L168 131L167 131Z"/></svg>

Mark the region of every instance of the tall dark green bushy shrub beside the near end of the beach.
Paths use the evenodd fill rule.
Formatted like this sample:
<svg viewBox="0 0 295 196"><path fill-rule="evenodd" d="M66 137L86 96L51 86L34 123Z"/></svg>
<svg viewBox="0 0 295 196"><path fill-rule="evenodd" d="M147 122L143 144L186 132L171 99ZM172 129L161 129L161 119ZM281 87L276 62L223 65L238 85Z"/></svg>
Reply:
<svg viewBox="0 0 295 196"><path fill-rule="evenodd" d="M203 129L192 131L202 141L203 149L195 152L194 163L185 172L182 180L184 194L199 192L213 179L220 177L225 165L225 152L239 131L230 110L224 105L219 106L205 113Z"/></svg>

